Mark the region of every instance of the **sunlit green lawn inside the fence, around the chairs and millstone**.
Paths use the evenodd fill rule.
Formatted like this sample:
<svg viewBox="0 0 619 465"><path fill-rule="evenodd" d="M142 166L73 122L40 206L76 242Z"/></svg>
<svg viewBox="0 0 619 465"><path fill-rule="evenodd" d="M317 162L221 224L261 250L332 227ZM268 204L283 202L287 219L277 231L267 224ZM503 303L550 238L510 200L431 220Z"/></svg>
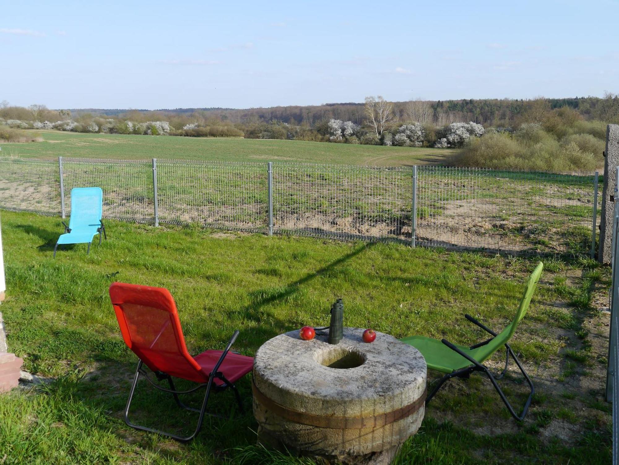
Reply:
<svg viewBox="0 0 619 465"><path fill-rule="evenodd" d="M309 463L255 446L249 376L238 383L248 411L239 414L230 393L215 395L210 407L233 419L207 418L188 445L126 427L137 359L118 330L107 293L113 281L170 289L190 353L223 348L240 329L234 350L253 355L274 335L328 324L338 297L347 326L470 345L486 337L464 313L502 328L536 263L397 244L106 226L109 240L93 244L90 255L80 244L54 260L59 218L2 212L9 350L24 358L25 370L55 381L0 396L0 463ZM610 406L602 401L608 317L591 304L609 273L588 260L545 265L513 341L536 388L526 420L514 422L480 375L452 380L397 464L610 462ZM500 370L501 363L503 353L496 354L491 365ZM520 408L526 387L510 373L501 385ZM178 412L171 397L140 388L139 421L191 427L194 418Z"/></svg>

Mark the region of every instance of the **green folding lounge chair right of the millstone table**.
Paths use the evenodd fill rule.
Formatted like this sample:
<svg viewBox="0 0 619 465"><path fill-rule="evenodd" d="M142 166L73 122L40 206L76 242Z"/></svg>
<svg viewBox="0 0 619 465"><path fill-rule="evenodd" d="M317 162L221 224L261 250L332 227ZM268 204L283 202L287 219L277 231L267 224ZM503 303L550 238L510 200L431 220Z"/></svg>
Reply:
<svg viewBox="0 0 619 465"><path fill-rule="evenodd" d="M496 391L501 396L504 404L507 406L509 413L516 418L516 420L522 421L524 416L527 414L527 410L529 410L529 405L531 404L531 399L533 398L533 394L535 393L535 389L533 387L533 383L527 375L524 368L520 364L520 361L517 359L516 354L511 347L509 347L509 340L514 335L514 331L516 331L516 327L518 323L521 321L522 317L529 309L529 303L531 301L531 297L535 291L535 286L537 285L537 281L540 280L540 276L542 275L543 263L540 262L533 273L531 273L529 280L527 280L527 286L524 290L524 294L522 295L522 300L520 301L520 306L516 311L516 315L514 315L514 319L507 327L501 331L499 334L496 334L491 329L488 329L485 325L478 322L474 317L470 315L465 315L464 317L470 322L478 325L483 330L487 331L492 335L492 337L483 342L477 343L470 347L463 347L462 345L452 344L446 339L441 339L440 341L437 339L431 339L430 337L423 336L410 336L405 337L404 339L400 339L402 342L405 342L413 347L417 348L419 352L425 357L426 364L428 368L431 370L441 371L442 373L447 373L443 378L439 379L436 387L426 398L426 404L430 402L430 399L434 397L436 392L443 386L443 383L448 379L454 378L458 376L459 378L469 378L470 374L474 371L482 371L487 374L488 378L490 378L491 383L495 387ZM493 375L490 373L490 370L487 366L483 365L483 362L488 360L490 356L499 350L501 347L505 347L505 368L501 372L501 374ZM501 391L501 388L496 383L497 379L503 378L504 374L507 372L507 368L509 365L509 356L514 359L516 365L520 369L521 373L524 375L524 378L529 383L530 394L526 403L524 404L524 408L520 415L517 415L514 412L511 404L509 404L507 397Z"/></svg>

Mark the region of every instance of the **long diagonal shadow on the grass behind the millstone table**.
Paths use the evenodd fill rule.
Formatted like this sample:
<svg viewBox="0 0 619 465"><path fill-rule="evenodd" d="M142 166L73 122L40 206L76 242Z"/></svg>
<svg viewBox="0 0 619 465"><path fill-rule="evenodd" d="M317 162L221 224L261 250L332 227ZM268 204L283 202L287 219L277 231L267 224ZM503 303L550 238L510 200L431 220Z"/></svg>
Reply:
<svg viewBox="0 0 619 465"><path fill-rule="evenodd" d="M297 281L289 283L288 285L285 285L283 287L263 288L251 293L251 303L246 306L245 309L243 309L243 312L245 312L245 315L249 320L259 323L258 327L254 327L251 329L253 339L259 336L262 337L264 340L268 340L272 337L275 337L276 335L282 334L283 332L290 330L290 322L283 321L282 319L279 319L272 314L269 314L269 318L266 319L266 314L264 313L264 311L261 311L264 306L292 296L292 294L297 293L301 285L308 283L309 281L323 275L324 273L330 272L342 263L347 262L353 257L361 254L361 252L365 252L366 250L369 250L375 245L376 242L361 244L361 246L357 247L349 254L346 254L331 263L328 263L327 265L319 268L313 273L308 273L303 278L300 278ZM267 321L270 324L267 324ZM242 332L243 330L241 330L241 333Z"/></svg>

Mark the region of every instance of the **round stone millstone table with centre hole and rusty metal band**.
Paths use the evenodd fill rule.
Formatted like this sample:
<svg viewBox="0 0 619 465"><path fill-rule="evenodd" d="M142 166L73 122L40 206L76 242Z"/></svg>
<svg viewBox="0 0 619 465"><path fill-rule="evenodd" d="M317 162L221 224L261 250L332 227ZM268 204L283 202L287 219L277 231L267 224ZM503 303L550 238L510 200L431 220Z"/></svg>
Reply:
<svg viewBox="0 0 619 465"><path fill-rule="evenodd" d="M301 340L280 334L256 353L258 441L326 463L389 464L424 414L426 363L417 349L363 329Z"/></svg>

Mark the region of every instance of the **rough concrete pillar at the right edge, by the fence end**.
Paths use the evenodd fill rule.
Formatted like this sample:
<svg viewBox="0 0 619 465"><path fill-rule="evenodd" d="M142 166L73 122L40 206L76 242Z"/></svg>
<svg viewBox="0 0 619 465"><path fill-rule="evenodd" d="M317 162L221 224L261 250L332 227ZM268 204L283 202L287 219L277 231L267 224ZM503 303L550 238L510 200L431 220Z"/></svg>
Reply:
<svg viewBox="0 0 619 465"><path fill-rule="evenodd" d="M610 263L613 242L614 203L610 197L615 195L617 185L617 166L619 166L619 125L608 125L606 130L606 157L604 159L604 189L602 190L602 218L600 221L600 245L597 259L600 263ZM619 201L619 199L615 199Z"/></svg>

